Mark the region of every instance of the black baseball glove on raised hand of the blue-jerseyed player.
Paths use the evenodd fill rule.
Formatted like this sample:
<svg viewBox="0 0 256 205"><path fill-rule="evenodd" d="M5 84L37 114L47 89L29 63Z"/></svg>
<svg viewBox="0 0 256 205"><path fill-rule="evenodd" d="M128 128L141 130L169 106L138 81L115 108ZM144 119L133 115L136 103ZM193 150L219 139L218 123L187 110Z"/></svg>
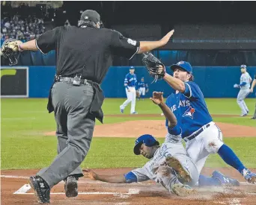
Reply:
<svg viewBox="0 0 256 205"><path fill-rule="evenodd" d="M150 52L143 54L142 63L147 68L147 72L154 78L152 83L156 83L157 80L165 76L165 66L162 62L154 57ZM162 66L162 68L160 68Z"/></svg>

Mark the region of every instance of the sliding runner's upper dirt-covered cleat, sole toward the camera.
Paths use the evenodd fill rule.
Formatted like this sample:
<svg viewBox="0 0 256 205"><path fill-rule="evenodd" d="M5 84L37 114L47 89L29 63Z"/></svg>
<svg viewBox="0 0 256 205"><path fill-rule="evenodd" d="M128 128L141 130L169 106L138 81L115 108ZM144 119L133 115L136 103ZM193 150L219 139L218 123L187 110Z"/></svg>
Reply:
<svg viewBox="0 0 256 205"><path fill-rule="evenodd" d="M182 178L183 180L185 180L186 182L191 181L191 177L188 171L186 171L185 168L183 168L183 166L181 165L180 161L177 160L174 157L165 157L165 163L173 168L175 171L177 171L177 174L180 178Z"/></svg>

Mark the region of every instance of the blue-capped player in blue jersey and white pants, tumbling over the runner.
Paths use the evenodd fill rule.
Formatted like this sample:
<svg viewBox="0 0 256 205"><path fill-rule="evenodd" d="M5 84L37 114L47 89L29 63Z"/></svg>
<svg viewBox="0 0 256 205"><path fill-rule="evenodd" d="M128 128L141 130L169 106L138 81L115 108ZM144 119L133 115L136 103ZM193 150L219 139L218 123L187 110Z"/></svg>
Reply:
<svg viewBox="0 0 256 205"><path fill-rule="evenodd" d="M174 90L180 110L182 138L186 142L186 151L198 168L204 166L210 154L218 153L228 165L236 168L249 183L256 182L256 174L249 171L227 145L222 142L222 131L213 122L199 86L193 82L192 66L180 61L171 66L174 77L165 74L163 78ZM178 119L179 120L179 119ZM207 181L206 177L199 180Z"/></svg>

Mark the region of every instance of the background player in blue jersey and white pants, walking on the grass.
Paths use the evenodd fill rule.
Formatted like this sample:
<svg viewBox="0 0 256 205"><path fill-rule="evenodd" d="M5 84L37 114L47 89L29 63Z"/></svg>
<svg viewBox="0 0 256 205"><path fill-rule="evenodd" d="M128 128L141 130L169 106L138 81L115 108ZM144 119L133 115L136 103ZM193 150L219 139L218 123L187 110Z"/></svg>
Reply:
<svg viewBox="0 0 256 205"><path fill-rule="evenodd" d="M124 79L124 86L125 86L125 91L127 92L127 100L124 101L123 104L120 106L120 111L121 113L124 113L124 108L127 107L127 105L131 102L131 114L138 114L135 112L135 103L136 103L136 83L137 83L137 78L136 75L134 74L134 67L131 66L129 68L129 73L125 76Z"/></svg>

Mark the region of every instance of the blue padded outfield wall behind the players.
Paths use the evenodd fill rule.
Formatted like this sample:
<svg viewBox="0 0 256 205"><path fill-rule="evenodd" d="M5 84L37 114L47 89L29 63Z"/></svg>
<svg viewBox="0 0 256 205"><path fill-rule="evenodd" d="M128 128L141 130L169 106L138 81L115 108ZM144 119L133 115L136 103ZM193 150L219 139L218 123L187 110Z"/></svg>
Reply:
<svg viewBox="0 0 256 205"><path fill-rule="evenodd" d="M6 69L6 66L1 68ZM15 66L8 67L15 69ZM198 83L205 98L236 98L239 89L234 89L234 83L240 83L240 67L194 67L193 74L195 83ZM253 78L256 73L256 66L248 67L248 72ZM124 78L129 72L129 67L113 66L109 68L102 83L102 88L106 98L126 98L124 89ZM171 73L168 68L168 73ZM164 92L164 96L171 94L172 89L165 81L160 80L151 83L153 78L147 74L147 70L142 66L135 66L135 74L140 79L144 76L148 83L150 92L146 97L149 98L153 91ZM48 97L49 88L55 75L55 66L28 66L28 96L29 98ZM2 77L3 78L3 77ZM250 94L249 97L255 97Z"/></svg>

